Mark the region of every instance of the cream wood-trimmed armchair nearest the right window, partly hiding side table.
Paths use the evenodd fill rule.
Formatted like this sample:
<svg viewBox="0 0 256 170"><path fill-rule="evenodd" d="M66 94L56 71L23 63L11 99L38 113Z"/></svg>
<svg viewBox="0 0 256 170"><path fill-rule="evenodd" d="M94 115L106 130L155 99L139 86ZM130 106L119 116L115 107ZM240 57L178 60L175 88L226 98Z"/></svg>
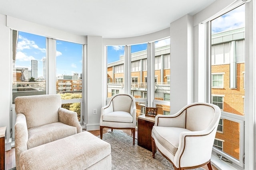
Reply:
<svg viewBox="0 0 256 170"><path fill-rule="evenodd" d="M174 115L157 115L152 129L152 156L156 149L174 170L199 168L212 170L211 154L220 120L220 108L213 104L193 103Z"/></svg>

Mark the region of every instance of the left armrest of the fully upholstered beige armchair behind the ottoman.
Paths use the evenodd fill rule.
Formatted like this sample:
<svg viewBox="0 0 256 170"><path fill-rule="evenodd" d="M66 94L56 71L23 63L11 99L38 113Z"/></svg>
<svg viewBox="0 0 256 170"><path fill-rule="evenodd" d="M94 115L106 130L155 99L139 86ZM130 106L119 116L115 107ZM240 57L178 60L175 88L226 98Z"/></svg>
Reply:
<svg viewBox="0 0 256 170"><path fill-rule="evenodd" d="M15 159L16 167L19 169L20 154L25 150L28 150L28 127L24 114L19 113L16 117L15 129Z"/></svg>

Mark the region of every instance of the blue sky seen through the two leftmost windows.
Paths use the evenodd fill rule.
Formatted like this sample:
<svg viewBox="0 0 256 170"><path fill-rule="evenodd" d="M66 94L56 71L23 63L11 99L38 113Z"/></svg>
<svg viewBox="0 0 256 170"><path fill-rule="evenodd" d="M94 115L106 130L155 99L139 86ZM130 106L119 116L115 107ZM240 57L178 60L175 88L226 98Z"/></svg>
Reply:
<svg viewBox="0 0 256 170"><path fill-rule="evenodd" d="M56 55L57 76L82 73L82 45L56 40ZM44 57L46 37L19 31L15 67L31 70L31 60L37 60L38 77L41 77Z"/></svg>

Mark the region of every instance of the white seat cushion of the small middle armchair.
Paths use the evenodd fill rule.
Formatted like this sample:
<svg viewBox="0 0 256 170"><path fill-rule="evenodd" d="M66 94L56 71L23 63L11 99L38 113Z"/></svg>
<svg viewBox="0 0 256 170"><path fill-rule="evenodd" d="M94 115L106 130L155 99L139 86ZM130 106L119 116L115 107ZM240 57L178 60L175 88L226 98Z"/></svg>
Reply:
<svg viewBox="0 0 256 170"><path fill-rule="evenodd" d="M113 111L103 115L103 121L132 123L132 115L126 111Z"/></svg>

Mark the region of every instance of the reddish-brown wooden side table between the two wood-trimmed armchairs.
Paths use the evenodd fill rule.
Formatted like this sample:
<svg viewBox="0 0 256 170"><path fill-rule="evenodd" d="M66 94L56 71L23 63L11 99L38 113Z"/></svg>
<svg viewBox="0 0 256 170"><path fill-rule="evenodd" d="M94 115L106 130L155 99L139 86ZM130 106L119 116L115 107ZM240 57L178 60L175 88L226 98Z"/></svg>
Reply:
<svg viewBox="0 0 256 170"><path fill-rule="evenodd" d="M152 152L151 131L155 117L138 116L138 145Z"/></svg>

